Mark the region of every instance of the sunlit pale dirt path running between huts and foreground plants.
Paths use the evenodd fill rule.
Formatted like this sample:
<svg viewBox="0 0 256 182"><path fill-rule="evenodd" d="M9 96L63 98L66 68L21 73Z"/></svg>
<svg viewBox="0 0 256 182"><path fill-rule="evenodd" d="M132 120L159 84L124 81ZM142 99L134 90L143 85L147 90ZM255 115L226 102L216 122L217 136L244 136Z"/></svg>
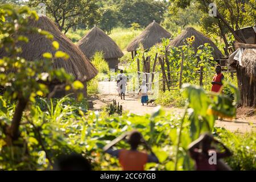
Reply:
<svg viewBox="0 0 256 182"><path fill-rule="evenodd" d="M148 104L148 106L142 106L140 98L135 94L128 94L125 97L125 100L121 100L121 98L118 97L117 93L115 93L116 91L114 89L105 89L106 87L104 85L106 85L106 83L103 83L101 85L101 94L90 98L90 100L93 101L93 110L101 110L102 107L105 107L113 100L116 100L117 102L119 102L119 104L123 106L123 110L129 111L130 113L143 115L151 114L152 112L154 112L156 105ZM110 88L115 88L113 84L112 86L110 86ZM174 107L163 107L163 109L176 115L181 115L184 112L184 109ZM230 131L239 133L246 133L246 131L256 131L256 116L239 116L238 118L233 119L233 121L217 121L216 126L225 127Z"/></svg>

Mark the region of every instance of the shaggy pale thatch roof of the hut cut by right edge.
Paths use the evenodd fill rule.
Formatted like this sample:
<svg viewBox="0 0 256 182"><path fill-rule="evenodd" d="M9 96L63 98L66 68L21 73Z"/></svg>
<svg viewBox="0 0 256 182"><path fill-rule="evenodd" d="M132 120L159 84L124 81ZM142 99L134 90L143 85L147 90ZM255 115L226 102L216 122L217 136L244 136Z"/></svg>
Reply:
<svg viewBox="0 0 256 182"><path fill-rule="evenodd" d="M256 44L236 44L237 50L229 56L229 64L239 64L248 76L256 78ZM239 57L241 61L239 61Z"/></svg>

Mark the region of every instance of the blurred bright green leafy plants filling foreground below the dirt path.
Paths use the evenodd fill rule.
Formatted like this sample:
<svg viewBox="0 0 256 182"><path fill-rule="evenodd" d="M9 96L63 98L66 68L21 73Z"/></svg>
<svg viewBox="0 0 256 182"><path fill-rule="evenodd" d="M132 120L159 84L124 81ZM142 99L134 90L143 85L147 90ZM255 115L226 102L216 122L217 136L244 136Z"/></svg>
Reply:
<svg viewBox="0 0 256 182"><path fill-rule="evenodd" d="M212 99L203 89L189 85L184 86L184 94L184 97L188 98L187 106L190 108L184 117L164 113L161 109L152 115L109 116L105 112L87 112L86 104L77 106L76 101L68 97L55 101L38 98L39 102L31 105L23 116L19 128L22 137L19 142L26 142L25 145L7 146L5 134L0 130L3 136L0 139L0 168L51 169L58 155L76 151L91 160L93 169L120 169L117 159L102 154L102 147L124 132L137 129L152 146L160 161L160 164L147 164L146 169L193 169L193 162L186 152L188 144L200 133L212 131L215 137L232 149L233 156L226 161L233 169L255 170L256 134L233 134L225 129L213 128L214 116L206 115L207 110L215 105L234 108L232 105L226 107L227 105L220 104L224 103L221 100L229 98L215 95L213 97L216 99ZM203 107L193 104L194 100L199 101ZM222 114L225 113L223 107L218 108ZM3 112L3 108L7 112ZM1 120L10 122L14 104L6 102L0 112ZM24 150L24 147L27 147L27 150ZM127 147L127 143L120 142L117 147ZM38 164L39 151L46 152L47 159L43 165Z"/></svg>

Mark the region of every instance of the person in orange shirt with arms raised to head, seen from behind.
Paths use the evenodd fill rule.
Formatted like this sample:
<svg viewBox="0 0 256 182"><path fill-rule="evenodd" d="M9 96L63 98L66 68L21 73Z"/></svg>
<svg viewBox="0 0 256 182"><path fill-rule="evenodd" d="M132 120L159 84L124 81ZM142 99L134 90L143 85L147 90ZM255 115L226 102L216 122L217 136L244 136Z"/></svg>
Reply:
<svg viewBox="0 0 256 182"><path fill-rule="evenodd" d="M130 150L121 149L113 150L112 147L117 144L119 141L126 139L130 144ZM150 154L145 152L140 152L137 150L139 144L144 144L147 150L150 150ZM158 158L152 152L151 147L148 146L146 141L143 139L142 134L134 130L130 133L125 133L118 138L115 138L107 144L104 148L104 151L112 156L115 156L119 159L119 163L123 171L144 171L144 165L146 163L158 163Z"/></svg>

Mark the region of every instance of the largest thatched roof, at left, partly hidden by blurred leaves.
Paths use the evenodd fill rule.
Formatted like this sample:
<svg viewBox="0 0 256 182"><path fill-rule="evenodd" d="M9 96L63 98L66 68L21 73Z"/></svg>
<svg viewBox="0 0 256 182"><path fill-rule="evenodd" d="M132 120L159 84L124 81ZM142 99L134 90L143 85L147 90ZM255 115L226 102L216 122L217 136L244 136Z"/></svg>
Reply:
<svg viewBox="0 0 256 182"><path fill-rule="evenodd" d="M39 20L30 19L28 26L40 28L44 31L50 32L54 36L54 40L59 42L59 51L63 51L69 55L68 60L55 59L53 68L64 68L67 73L75 76L77 80L82 82L88 81L97 75L97 69L86 58L86 56L80 51L80 49L71 42L64 34L62 34L52 22L51 19L46 16L42 16ZM28 61L43 59L43 53L51 52L55 54L55 50L52 48L52 40L46 38L46 36L39 34L23 34L29 39L28 43L19 42L18 47L22 48L22 53L19 55ZM6 53L3 49L0 50L0 57L5 56Z"/></svg>

